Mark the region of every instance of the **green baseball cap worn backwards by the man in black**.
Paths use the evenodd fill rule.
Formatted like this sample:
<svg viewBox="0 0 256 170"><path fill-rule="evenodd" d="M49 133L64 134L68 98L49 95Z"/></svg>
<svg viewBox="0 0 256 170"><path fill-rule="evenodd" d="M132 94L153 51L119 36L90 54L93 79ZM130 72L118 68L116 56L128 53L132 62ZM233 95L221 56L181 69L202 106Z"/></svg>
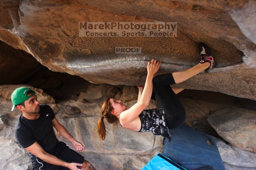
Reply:
<svg viewBox="0 0 256 170"><path fill-rule="evenodd" d="M27 96L27 92L28 91L32 91L33 93L30 94L29 96ZM26 100L28 100L30 97L32 97L36 92L34 92L34 90L28 88L28 87L19 87L17 89L15 89L13 92L12 92L12 111L15 107L15 105L17 104L20 104Z"/></svg>

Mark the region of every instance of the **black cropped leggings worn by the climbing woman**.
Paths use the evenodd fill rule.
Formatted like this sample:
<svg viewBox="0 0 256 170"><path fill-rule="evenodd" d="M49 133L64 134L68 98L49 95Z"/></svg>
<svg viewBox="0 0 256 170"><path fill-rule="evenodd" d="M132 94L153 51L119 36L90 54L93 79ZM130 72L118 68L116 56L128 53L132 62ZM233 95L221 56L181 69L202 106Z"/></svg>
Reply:
<svg viewBox="0 0 256 170"><path fill-rule="evenodd" d="M164 109L168 129L180 127L185 119L186 112L178 96L170 85L176 84L172 73L159 75L153 78L153 87L156 92L156 102Z"/></svg>

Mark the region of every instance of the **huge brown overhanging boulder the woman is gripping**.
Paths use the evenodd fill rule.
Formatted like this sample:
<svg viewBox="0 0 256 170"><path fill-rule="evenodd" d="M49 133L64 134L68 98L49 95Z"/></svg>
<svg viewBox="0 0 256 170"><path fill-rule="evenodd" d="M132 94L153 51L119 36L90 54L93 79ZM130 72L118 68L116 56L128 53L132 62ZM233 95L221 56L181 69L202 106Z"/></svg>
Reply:
<svg viewBox="0 0 256 170"><path fill-rule="evenodd" d="M255 6L253 0L5 0L0 39L53 71L113 85L144 85L151 58L163 61L158 74L189 68L198 63L196 46L203 41L217 68L176 86L256 100ZM172 21L178 23L178 36L79 37L81 21ZM120 46L141 47L142 53L115 54Z"/></svg>

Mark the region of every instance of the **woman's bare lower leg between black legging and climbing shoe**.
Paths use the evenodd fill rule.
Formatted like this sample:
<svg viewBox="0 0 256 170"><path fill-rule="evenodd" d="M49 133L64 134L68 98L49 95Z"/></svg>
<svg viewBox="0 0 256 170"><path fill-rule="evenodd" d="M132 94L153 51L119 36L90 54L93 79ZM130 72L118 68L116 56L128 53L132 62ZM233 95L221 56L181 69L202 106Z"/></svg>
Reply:
<svg viewBox="0 0 256 170"><path fill-rule="evenodd" d="M191 78L191 77L195 76L196 74L204 71L208 67L210 67L210 63L208 63L208 62L203 63L203 64L198 63L197 65L195 65L194 67L191 67L189 69L173 72L172 76L174 78L175 83L178 84L178 83L181 83L181 82L187 80L188 78Z"/></svg>

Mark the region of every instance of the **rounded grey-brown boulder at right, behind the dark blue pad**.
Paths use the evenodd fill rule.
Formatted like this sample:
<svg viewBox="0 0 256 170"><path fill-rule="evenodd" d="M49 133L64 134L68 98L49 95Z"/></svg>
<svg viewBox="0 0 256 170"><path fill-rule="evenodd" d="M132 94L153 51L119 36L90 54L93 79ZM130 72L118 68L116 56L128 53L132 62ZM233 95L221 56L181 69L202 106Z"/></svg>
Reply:
<svg viewBox="0 0 256 170"><path fill-rule="evenodd" d="M216 111L207 120L230 144L256 153L256 111L225 108Z"/></svg>

